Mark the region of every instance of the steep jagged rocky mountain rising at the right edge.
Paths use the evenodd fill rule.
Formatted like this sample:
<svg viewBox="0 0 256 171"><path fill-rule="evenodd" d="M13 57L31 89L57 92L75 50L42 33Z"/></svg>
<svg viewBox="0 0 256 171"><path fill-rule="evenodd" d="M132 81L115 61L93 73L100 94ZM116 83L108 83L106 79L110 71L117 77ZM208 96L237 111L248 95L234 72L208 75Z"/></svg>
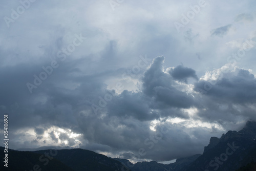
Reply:
<svg viewBox="0 0 256 171"><path fill-rule="evenodd" d="M243 130L228 131L221 138L211 137L204 153L184 168L185 171L230 171L256 158L256 122L248 121Z"/></svg>

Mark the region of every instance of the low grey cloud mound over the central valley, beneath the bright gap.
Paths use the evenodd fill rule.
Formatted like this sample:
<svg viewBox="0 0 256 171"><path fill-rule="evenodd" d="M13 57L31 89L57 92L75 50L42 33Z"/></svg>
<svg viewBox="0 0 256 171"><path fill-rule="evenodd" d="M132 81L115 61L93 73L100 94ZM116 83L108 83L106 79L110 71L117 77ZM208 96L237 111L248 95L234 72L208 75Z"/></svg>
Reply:
<svg viewBox="0 0 256 171"><path fill-rule="evenodd" d="M203 149L200 146L203 142L191 138L184 130L186 128L181 124L159 124L156 126L156 132L152 132L145 139L141 139L144 143L138 144L136 151L120 153L119 157L133 160L147 158L155 161L169 161L175 159L174 156L181 158L186 155L201 153ZM198 128L191 128L190 131L193 134L198 133L199 137L205 135L205 132ZM184 141L190 145L184 144ZM168 148L165 148L166 145ZM140 148L144 149L144 155L139 154ZM184 151L179 150L180 148ZM158 155L156 151L161 155Z"/></svg>

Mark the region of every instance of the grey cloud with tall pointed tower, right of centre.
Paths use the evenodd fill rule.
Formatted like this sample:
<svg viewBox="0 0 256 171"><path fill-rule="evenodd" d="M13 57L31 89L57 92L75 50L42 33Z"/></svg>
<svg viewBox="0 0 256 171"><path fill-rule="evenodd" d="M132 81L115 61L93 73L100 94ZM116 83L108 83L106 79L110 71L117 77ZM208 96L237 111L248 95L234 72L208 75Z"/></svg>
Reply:
<svg viewBox="0 0 256 171"><path fill-rule="evenodd" d="M145 71L142 78L143 93L125 90L120 95L114 96L108 104L108 114L126 119L133 117L141 121L154 120L161 116L186 118L187 116L179 110L168 114L163 110L187 109L194 103L192 96L172 86L172 78L164 73L163 62L163 56L156 57ZM163 112L155 112L156 110L163 110Z"/></svg>

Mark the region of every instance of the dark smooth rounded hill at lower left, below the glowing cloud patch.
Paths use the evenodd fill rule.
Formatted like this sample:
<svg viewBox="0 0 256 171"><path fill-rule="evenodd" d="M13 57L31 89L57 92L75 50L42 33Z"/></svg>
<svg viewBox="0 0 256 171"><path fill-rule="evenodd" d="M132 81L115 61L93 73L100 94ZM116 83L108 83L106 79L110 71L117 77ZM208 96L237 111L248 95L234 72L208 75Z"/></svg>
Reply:
<svg viewBox="0 0 256 171"><path fill-rule="evenodd" d="M0 155L5 155L4 147L0 147ZM35 152L8 149L8 168L1 164L0 170L129 171L120 162L85 149L48 149Z"/></svg>

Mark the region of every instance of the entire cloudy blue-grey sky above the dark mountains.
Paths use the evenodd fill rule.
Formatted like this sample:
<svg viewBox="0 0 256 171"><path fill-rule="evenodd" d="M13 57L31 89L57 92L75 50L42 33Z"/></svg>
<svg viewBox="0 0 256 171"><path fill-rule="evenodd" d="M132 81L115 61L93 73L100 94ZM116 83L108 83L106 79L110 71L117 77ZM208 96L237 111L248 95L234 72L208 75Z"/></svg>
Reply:
<svg viewBox="0 0 256 171"><path fill-rule="evenodd" d="M256 119L255 6L1 1L9 148L158 162L202 154L210 137Z"/></svg>

